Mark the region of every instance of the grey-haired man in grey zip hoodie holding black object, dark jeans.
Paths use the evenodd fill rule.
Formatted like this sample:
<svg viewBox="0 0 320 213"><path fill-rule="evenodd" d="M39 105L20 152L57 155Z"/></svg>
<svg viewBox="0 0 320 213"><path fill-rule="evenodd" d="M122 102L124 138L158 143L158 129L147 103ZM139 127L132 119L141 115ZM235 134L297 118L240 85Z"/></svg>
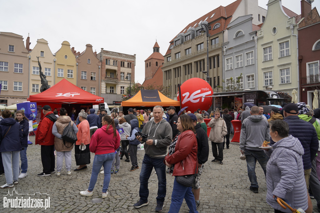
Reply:
<svg viewBox="0 0 320 213"><path fill-rule="evenodd" d="M167 154L167 147L172 142L172 128L167 121L162 119L162 115L163 108L161 106L153 107L154 120L149 121L142 130L142 133L146 134L148 137L144 144L145 155L140 172L140 200L133 205L135 208L140 208L149 204L148 180L152 169L155 168L158 177L156 212L162 211L164 197L167 192L165 164L163 161ZM137 139L142 141L141 136L137 136Z"/></svg>

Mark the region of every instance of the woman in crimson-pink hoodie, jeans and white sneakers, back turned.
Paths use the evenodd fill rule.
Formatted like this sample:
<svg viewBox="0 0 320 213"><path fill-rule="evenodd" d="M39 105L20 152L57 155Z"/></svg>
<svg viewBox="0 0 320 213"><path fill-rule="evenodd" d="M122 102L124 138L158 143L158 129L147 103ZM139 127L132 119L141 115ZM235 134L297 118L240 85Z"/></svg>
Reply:
<svg viewBox="0 0 320 213"><path fill-rule="evenodd" d="M105 115L102 117L102 127L94 132L90 140L90 152L93 152L95 155L89 187L87 190L80 192L82 196L93 195L92 190L97 182L97 177L102 165L104 168L102 198L108 196L107 190L111 177L111 165L115 157L115 151L119 146L120 135L116 130L115 121L110 115Z"/></svg>

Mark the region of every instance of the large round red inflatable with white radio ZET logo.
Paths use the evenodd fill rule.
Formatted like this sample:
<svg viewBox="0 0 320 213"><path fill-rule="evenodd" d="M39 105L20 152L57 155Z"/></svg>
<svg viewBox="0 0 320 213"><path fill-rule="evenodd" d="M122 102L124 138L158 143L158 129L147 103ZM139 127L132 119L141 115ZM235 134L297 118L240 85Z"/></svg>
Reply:
<svg viewBox="0 0 320 213"><path fill-rule="evenodd" d="M180 101L181 107L188 106L187 110L193 113L197 109L208 110L212 105L212 98L204 98L213 94L212 87L209 83L201 78L190 78L180 86L181 93L177 98Z"/></svg>

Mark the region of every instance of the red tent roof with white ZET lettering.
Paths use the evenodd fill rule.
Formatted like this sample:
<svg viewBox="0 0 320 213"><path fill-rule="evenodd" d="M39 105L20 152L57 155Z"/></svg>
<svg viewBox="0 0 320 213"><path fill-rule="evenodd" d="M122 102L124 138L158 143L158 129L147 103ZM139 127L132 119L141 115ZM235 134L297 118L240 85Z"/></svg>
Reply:
<svg viewBox="0 0 320 213"><path fill-rule="evenodd" d="M56 83L44 92L30 95L28 100L30 102L52 102L58 104L104 103L103 98L80 89L66 79L62 79L59 83Z"/></svg>

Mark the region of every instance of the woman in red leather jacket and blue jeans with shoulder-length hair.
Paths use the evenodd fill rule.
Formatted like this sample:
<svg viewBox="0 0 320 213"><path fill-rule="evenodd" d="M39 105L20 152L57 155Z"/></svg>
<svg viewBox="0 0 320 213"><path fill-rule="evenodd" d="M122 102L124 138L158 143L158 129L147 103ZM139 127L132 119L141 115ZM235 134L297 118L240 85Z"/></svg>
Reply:
<svg viewBox="0 0 320 213"><path fill-rule="evenodd" d="M194 126L188 115L181 115L178 118L177 129L181 132L174 147L174 150L165 157L165 164L173 168L173 176L191 175L197 173L197 139ZM174 142L173 142L174 143ZM179 184L174 178L173 190L171 195L171 205L169 213L179 212L183 198L189 207L189 212L196 210L195 197L191 186L186 187Z"/></svg>

